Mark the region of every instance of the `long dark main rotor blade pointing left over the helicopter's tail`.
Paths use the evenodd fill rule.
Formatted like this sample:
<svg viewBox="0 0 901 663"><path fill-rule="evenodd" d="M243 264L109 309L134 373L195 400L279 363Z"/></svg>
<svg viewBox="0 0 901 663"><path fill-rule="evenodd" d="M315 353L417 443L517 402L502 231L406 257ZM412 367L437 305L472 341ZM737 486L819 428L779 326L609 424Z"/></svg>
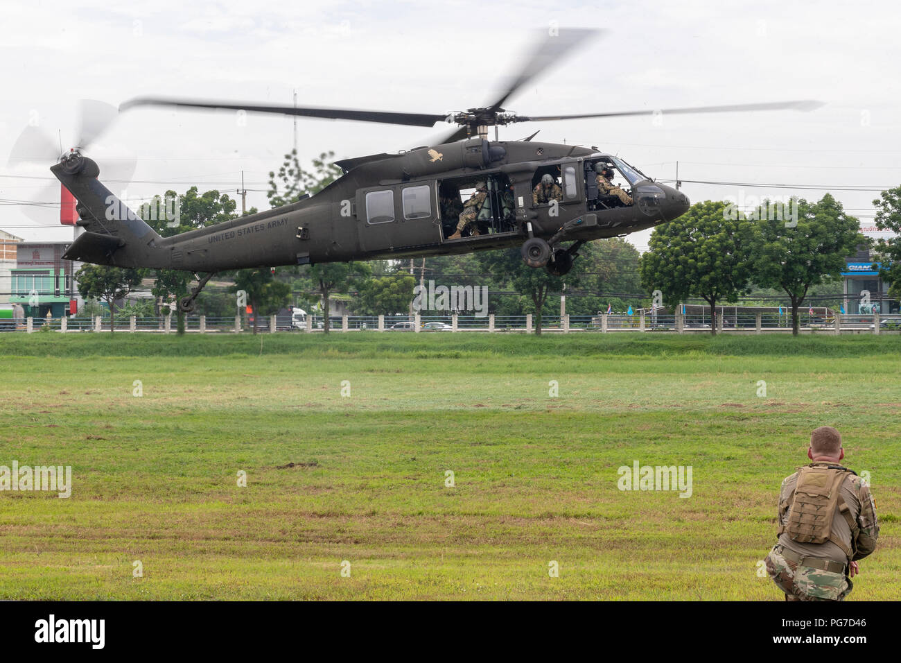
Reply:
<svg viewBox="0 0 901 663"><path fill-rule="evenodd" d="M353 110L350 108L323 108L319 106L278 106L276 104L240 104L224 101L203 101L200 99L177 99L168 97L136 97L126 101L119 109L124 111L135 106L178 106L182 108L216 108L222 110L247 111L248 113L276 113L278 115L302 115L323 117L332 120L358 120L359 122L379 122L382 124L406 124L408 126L433 126L443 122L447 115L424 113L389 113L386 111Z"/></svg>

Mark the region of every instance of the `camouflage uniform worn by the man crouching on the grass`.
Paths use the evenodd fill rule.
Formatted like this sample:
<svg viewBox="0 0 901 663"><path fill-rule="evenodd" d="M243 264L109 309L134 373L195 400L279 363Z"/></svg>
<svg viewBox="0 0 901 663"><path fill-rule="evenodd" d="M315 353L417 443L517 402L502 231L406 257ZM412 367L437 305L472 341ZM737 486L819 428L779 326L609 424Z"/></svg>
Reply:
<svg viewBox="0 0 901 663"><path fill-rule="evenodd" d="M841 467L827 463L811 464L815 465ZM778 506L780 526L787 524L796 483L797 473L782 482ZM851 515L856 514L855 520L860 530L854 538L847 520L836 509L833 532L853 551L851 560L857 561L867 557L876 548L879 536L876 503L869 488L856 474L847 474L842 481L842 499L848 505ZM778 543L765 560L769 577L785 592L787 601L843 601L851 594L854 586L848 576L848 561L844 550L833 541L802 543L792 539L788 532L779 536ZM810 566L811 564L816 566Z"/></svg>

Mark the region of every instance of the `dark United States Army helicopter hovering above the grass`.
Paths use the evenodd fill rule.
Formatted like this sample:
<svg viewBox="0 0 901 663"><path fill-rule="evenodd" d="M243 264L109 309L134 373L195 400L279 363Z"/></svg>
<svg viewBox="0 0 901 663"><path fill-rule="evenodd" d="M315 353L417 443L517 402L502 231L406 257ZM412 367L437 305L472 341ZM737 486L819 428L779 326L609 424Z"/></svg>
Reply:
<svg viewBox="0 0 901 663"><path fill-rule="evenodd" d="M106 189L97 179L96 161L72 149L50 168L76 199L76 225L83 231L63 257L132 269L193 272L198 285L178 301L184 312L194 308L197 295L216 272L243 268L394 260L519 246L523 262L559 276L571 270L585 243L666 223L687 212L690 202L678 189L655 182L596 146L536 142L538 132L523 140L501 141L498 126L654 113L811 110L821 105L790 101L578 115L517 115L505 110L503 105L518 89L552 64L560 64L564 55L596 32L560 29L548 34L490 104L450 114L134 98L123 103L120 112L138 106L175 106L421 127L446 122L457 127L438 143L336 161L341 177L314 196L169 237L158 235ZM495 140L489 140L492 127ZM617 197L599 189L602 180L596 173L602 171L608 178L618 173L628 193ZM560 188L559 199L536 203L532 192L549 177ZM473 209L476 217L463 235L458 228L460 203L474 189L483 192L484 199Z"/></svg>

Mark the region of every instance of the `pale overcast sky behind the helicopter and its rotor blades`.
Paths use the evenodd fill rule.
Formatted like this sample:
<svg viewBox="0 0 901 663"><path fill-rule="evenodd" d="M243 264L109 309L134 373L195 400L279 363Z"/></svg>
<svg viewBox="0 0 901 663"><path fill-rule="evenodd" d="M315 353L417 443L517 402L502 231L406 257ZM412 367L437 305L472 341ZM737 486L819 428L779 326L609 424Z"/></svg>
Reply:
<svg viewBox="0 0 901 663"><path fill-rule="evenodd" d="M66 239L59 212L35 225L9 201L56 201L50 163L8 164L17 136L39 124L68 148L77 100L115 106L167 95L377 110L445 113L490 100L536 31L552 24L603 34L532 81L505 107L522 115L818 99L810 113L778 111L516 124L501 139L541 129L547 142L597 145L693 202L707 198L820 198L815 189L901 183L901 8L884 3L623 2L175 2L117 6L93 0L0 5L0 228L25 239ZM292 120L229 112L144 108L121 115L91 147L104 172L137 158L129 199L166 189L250 190L268 207L267 173L293 143ZM298 119L302 161L430 143L447 131ZM17 177L11 177L17 176ZM30 180L25 177L47 178ZM685 180L741 182L710 185ZM55 181L55 180L52 180ZM120 191L123 184L108 183ZM836 190L861 226L872 226L878 190ZM40 227L48 226L48 227ZM648 232L630 235L642 250Z"/></svg>

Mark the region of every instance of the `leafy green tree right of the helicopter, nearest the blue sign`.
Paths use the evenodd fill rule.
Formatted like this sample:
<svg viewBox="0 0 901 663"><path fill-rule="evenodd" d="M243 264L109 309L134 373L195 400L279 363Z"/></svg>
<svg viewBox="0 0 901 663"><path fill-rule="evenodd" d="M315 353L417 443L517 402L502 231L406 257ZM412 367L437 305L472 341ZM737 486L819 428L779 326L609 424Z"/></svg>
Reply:
<svg viewBox="0 0 901 663"><path fill-rule="evenodd" d="M838 278L845 258L865 242L860 222L848 216L831 194L819 202L797 200L797 225L767 214L768 201L757 216L755 281L765 288L783 290L791 301L792 334L798 334L798 307L808 290L824 279ZM788 225L787 225L788 224Z"/></svg>

